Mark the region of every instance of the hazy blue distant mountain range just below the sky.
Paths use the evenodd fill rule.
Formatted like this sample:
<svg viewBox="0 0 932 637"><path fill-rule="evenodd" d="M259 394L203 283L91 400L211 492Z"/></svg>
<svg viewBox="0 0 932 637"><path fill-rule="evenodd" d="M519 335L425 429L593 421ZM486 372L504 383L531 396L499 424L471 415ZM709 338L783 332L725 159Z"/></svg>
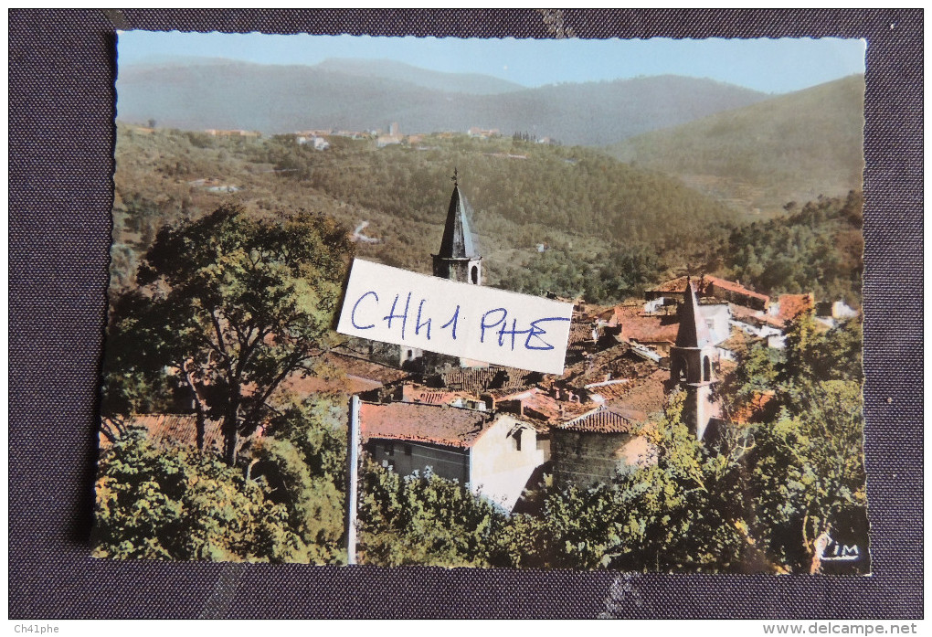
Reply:
<svg viewBox="0 0 932 637"><path fill-rule="evenodd" d="M379 61L284 66L228 60L121 66L122 121L186 130L528 131L564 144L609 145L754 104L754 90L682 76L514 89L494 77ZM585 114L584 117L580 117Z"/></svg>

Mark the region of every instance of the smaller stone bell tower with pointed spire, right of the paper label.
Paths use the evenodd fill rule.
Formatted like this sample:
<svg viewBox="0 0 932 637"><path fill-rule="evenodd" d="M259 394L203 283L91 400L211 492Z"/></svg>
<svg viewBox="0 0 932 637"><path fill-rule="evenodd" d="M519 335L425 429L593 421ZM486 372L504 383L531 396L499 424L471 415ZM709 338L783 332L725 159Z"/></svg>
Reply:
<svg viewBox="0 0 932 637"><path fill-rule="evenodd" d="M713 367L717 358L695 288L687 277L683 304L679 306L677 343L670 348L670 385L686 391L683 422L700 440L709 422L721 416L712 396L712 385L718 382Z"/></svg>

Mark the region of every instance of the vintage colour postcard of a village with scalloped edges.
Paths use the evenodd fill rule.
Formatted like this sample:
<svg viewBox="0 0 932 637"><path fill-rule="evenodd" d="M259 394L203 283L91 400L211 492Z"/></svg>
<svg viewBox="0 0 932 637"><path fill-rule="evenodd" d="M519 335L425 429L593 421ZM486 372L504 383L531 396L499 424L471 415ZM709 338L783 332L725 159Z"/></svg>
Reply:
<svg viewBox="0 0 932 637"><path fill-rule="evenodd" d="M97 557L870 573L863 41L117 50Z"/></svg>

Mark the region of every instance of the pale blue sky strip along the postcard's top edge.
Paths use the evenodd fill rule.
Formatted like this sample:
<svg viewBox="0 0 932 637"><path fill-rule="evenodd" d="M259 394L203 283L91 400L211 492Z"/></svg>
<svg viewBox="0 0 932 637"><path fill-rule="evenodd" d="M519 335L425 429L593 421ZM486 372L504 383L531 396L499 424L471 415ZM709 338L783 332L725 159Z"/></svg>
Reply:
<svg viewBox="0 0 932 637"><path fill-rule="evenodd" d="M171 56L265 64L327 58L390 59L436 71L479 73L526 87L675 74L784 93L864 72L863 40L516 40L352 35L121 32L119 63Z"/></svg>

